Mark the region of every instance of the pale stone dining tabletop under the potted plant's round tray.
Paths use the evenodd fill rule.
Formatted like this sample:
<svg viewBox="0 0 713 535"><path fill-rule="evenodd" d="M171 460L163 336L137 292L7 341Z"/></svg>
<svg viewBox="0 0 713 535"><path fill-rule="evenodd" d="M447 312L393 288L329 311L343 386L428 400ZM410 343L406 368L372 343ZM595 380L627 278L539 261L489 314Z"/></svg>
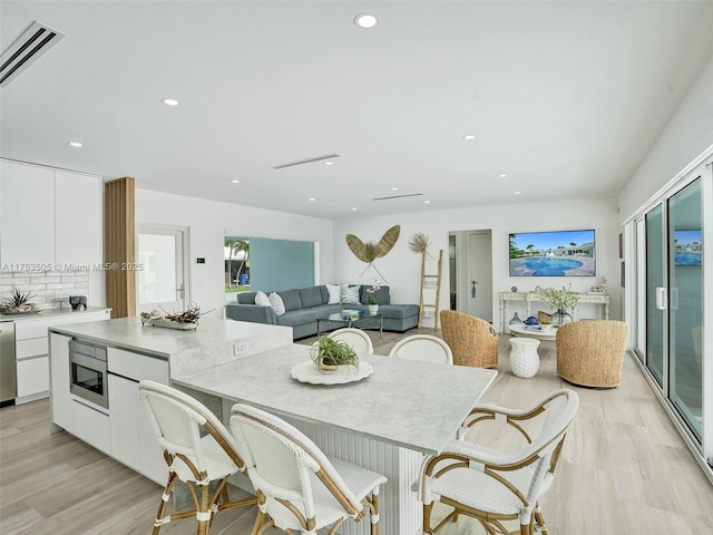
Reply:
<svg viewBox="0 0 713 535"><path fill-rule="evenodd" d="M496 370L370 354L360 358L373 372L359 382L309 385L290 373L310 359L307 350L285 346L172 379L283 417L437 454L497 376Z"/></svg>

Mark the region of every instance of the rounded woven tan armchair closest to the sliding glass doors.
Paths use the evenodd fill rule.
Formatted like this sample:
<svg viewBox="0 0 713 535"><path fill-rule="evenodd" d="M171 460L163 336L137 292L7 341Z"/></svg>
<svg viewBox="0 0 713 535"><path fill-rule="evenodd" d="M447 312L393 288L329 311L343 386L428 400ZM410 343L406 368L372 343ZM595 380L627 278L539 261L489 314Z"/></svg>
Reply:
<svg viewBox="0 0 713 535"><path fill-rule="evenodd" d="M557 373L583 387L618 387L627 337L628 325L616 320L575 321L560 327Z"/></svg>

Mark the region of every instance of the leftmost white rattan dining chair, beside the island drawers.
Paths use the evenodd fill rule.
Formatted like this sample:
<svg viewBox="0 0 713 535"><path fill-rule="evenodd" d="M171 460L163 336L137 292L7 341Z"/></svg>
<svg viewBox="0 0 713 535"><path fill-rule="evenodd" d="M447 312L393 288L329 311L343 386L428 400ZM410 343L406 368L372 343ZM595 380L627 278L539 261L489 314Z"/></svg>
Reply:
<svg viewBox="0 0 713 535"><path fill-rule="evenodd" d="M164 524L194 517L196 533L208 534L213 517L223 509L257 503L256 498L231 502L227 478L244 471L233 436L203 403L193 397L154 381L141 381L138 396L168 465L168 481L162 496L153 534ZM201 436L201 431L205 436ZM184 481L195 508L166 515L176 481ZM217 481L211 494L209 485Z"/></svg>

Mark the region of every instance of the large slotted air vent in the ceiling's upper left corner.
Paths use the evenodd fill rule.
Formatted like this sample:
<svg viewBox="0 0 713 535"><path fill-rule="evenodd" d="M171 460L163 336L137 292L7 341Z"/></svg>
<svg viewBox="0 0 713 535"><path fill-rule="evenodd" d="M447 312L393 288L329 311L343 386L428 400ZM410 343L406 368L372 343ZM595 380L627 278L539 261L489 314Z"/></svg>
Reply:
<svg viewBox="0 0 713 535"><path fill-rule="evenodd" d="M0 87L10 84L20 72L57 45L65 33L32 22L32 26L0 57Z"/></svg>

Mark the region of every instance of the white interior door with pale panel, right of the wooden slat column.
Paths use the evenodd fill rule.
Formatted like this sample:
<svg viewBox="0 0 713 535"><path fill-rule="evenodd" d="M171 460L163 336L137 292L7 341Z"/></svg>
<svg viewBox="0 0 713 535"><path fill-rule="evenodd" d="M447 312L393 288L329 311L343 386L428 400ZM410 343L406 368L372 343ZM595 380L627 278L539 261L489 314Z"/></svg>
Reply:
<svg viewBox="0 0 713 535"><path fill-rule="evenodd" d="M158 310L164 315L186 310L185 236L179 227L140 225L136 236L138 312Z"/></svg>

